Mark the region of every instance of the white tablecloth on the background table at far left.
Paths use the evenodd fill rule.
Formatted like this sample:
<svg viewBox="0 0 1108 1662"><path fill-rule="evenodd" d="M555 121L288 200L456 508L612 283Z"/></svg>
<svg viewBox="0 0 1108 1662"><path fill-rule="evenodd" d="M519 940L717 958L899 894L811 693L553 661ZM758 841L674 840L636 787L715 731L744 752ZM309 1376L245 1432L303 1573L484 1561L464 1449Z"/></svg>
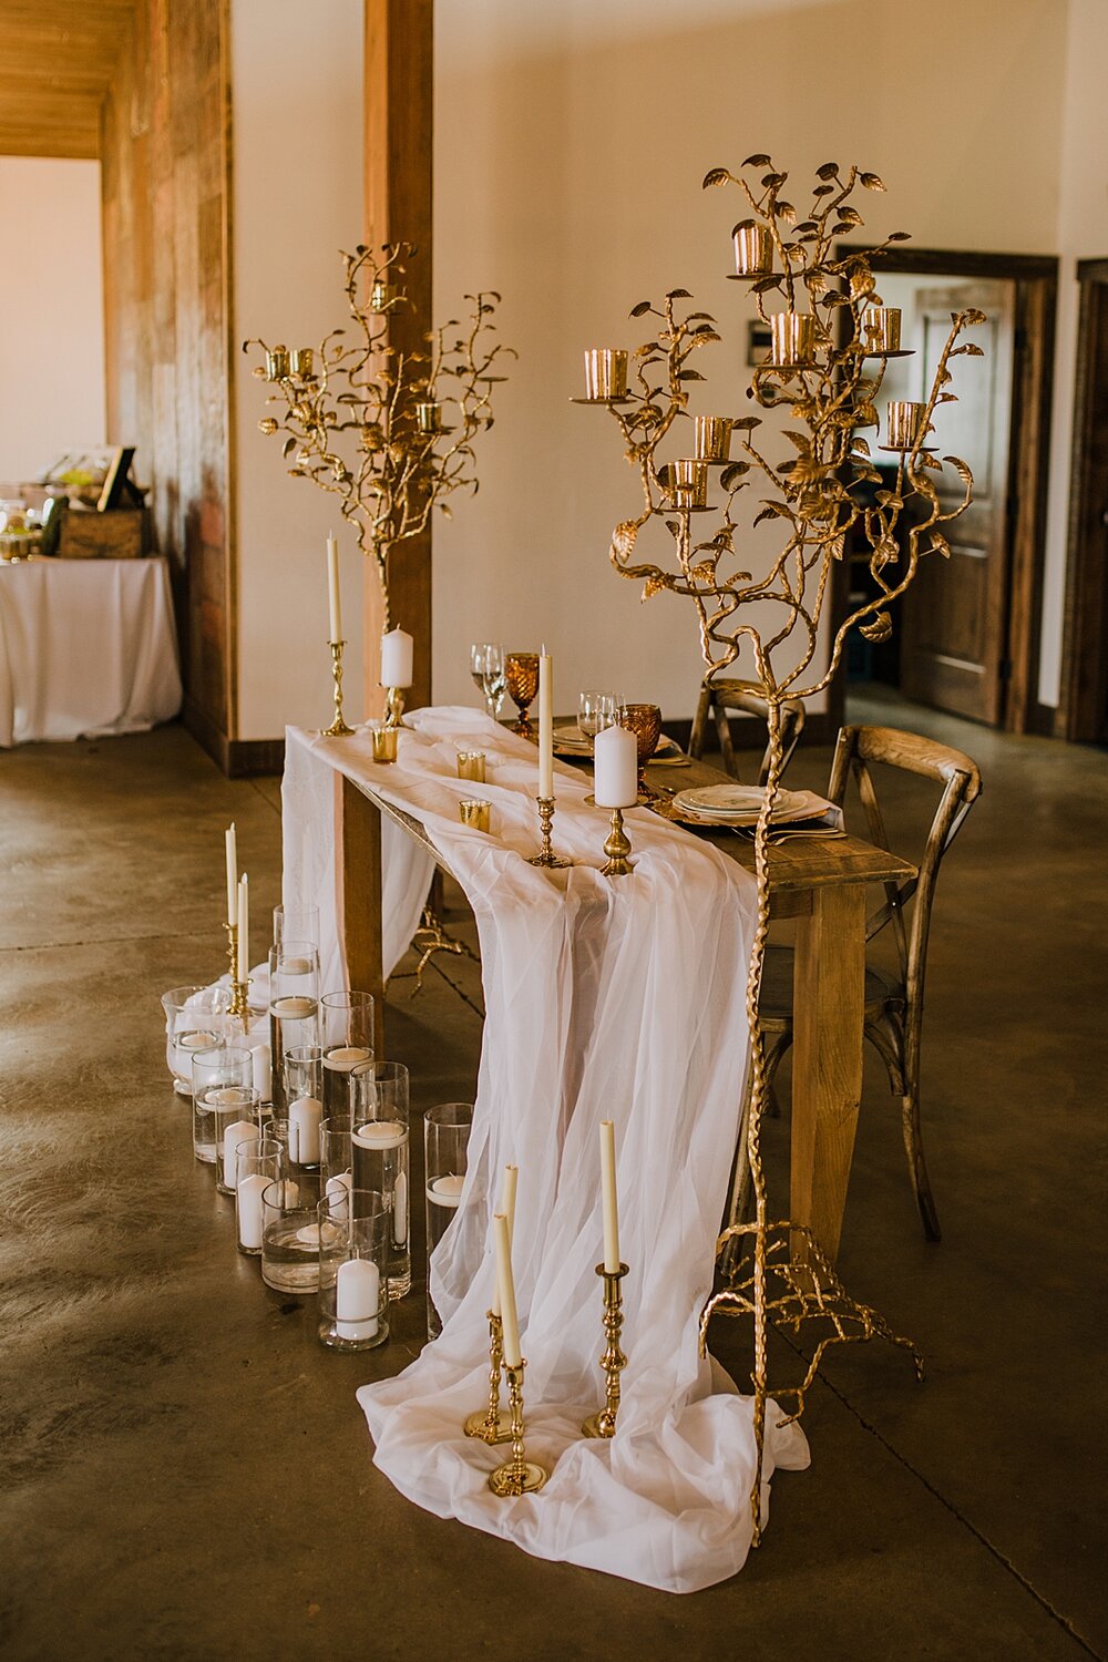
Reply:
<svg viewBox="0 0 1108 1662"><path fill-rule="evenodd" d="M164 560L0 563L0 746L143 733L179 708Z"/></svg>

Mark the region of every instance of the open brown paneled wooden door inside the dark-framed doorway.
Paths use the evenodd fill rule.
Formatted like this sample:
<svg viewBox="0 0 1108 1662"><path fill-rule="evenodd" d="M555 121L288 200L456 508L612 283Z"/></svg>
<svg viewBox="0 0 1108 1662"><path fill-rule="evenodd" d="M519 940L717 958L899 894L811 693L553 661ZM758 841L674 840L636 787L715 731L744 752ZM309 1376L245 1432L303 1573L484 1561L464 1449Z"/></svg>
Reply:
<svg viewBox="0 0 1108 1662"><path fill-rule="evenodd" d="M950 331L950 314L978 306L988 322L972 329L985 357L955 359L957 404L935 414L939 455L960 455L973 472L973 502L945 530L950 558L929 555L904 598L900 690L937 710L998 725L1003 720L1007 615L1010 583L1008 454L1015 347L1015 284L965 281L915 294L920 344L914 362L925 397ZM960 480L954 469L935 475L940 499L954 505Z"/></svg>

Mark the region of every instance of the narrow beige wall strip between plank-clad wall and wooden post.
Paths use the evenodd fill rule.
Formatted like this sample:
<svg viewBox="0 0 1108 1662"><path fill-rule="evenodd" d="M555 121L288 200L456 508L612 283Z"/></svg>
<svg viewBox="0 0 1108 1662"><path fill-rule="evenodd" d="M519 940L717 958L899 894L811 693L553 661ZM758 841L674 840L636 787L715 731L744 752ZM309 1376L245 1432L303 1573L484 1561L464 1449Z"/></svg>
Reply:
<svg viewBox="0 0 1108 1662"><path fill-rule="evenodd" d="M326 27L321 20L326 18ZM362 236L362 0L233 0L234 334L316 346L342 322L341 248ZM360 555L331 500L257 430L264 387L236 354L239 733L331 716L326 537L341 538L360 718Z"/></svg>

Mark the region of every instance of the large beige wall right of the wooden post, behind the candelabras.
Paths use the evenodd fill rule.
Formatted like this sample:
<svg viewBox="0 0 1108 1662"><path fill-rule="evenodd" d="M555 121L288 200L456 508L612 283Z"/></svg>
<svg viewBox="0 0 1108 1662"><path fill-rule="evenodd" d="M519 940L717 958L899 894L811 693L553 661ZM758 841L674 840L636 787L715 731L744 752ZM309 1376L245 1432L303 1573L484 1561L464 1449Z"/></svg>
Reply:
<svg viewBox="0 0 1108 1662"><path fill-rule="evenodd" d="M611 422L568 402L581 347L638 344L630 307L689 288L726 337L694 407L739 412L748 312L724 281L739 198L699 179L754 150L801 181L829 158L879 171L889 194L860 204L867 231L1055 251L1063 143L1085 145L1080 176L1101 179L1103 204L1086 128L1103 108L1105 7L1073 0L1073 15L1076 50L1065 0L930 0L925 15L902 0L439 0L435 307L498 288L520 349L482 492L435 530L439 701L470 698L472 638L545 637L561 706L605 681L691 713L688 602L643 607L606 563L638 497ZM1070 386L1063 366L1063 401Z"/></svg>

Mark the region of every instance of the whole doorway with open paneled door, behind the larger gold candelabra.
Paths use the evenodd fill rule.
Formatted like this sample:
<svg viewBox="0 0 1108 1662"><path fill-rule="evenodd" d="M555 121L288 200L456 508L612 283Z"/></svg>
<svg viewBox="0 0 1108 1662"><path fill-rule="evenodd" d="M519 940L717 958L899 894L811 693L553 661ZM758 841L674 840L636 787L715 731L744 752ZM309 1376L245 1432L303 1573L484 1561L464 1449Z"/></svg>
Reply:
<svg viewBox="0 0 1108 1662"><path fill-rule="evenodd" d="M952 527L952 558L924 563L894 640L879 652L852 643L831 688L832 723L844 718L847 680L875 680L992 726L1037 730L1058 261L905 248L889 249L874 273L919 347L889 366L882 401L925 396L952 311L978 306L988 316L973 331L987 357L957 377L958 404L944 407L937 432L942 454L970 464L975 502ZM864 582L862 560L842 572L837 617Z"/></svg>

